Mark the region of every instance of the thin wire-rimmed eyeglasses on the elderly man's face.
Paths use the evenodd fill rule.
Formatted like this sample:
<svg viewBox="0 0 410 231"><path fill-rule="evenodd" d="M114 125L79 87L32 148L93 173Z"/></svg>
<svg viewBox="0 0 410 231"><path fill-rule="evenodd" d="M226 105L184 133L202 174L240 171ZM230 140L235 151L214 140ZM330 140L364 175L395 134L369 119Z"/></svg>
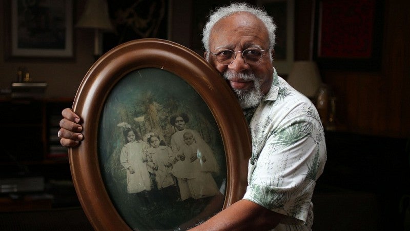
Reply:
<svg viewBox="0 0 410 231"><path fill-rule="evenodd" d="M211 53L216 57L218 63L229 65L234 62L234 60L236 59L236 53L238 52L242 53L242 59L245 61L245 63L252 64L257 63L262 59L264 51L266 50L261 50L258 48L248 48L244 51L233 51L226 49L218 51L216 53Z"/></svg>

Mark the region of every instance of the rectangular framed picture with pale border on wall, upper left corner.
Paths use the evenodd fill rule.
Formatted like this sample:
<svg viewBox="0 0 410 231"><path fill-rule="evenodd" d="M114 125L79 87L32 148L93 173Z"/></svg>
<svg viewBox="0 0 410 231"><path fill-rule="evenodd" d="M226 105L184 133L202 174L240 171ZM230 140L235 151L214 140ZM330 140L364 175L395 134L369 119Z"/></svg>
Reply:
<svg viewBox="0 0 410 231"><path fill-rule="evenodd" d="M8 1L7 1L8 2ZM72 0L10 1L6 56L73 57Z"/></svg>

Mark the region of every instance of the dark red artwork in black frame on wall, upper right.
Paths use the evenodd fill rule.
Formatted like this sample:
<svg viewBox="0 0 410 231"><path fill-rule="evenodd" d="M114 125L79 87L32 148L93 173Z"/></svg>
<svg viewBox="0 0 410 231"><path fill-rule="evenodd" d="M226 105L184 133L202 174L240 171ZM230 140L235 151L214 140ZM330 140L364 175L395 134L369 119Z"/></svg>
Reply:
<svg viewBox="0 0 410 231"><path fill-rule="evenodd" d="M320 69L379 70L382 0L316 0L313 59Z"/></svg>

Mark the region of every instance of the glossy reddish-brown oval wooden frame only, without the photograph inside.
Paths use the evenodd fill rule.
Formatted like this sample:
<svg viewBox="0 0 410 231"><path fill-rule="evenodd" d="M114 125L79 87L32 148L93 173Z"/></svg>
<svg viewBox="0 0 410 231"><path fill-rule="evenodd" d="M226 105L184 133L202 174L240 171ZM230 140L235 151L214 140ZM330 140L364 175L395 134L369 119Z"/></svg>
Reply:
<svg viewBox="0 0 410 231"><path fill-rule="evenodd" d="M163 89L169 89L170 92L175 91L175 89L181 91L182 88L175 83L185 84L187 85L186 89L192 88L193 91L197 92L203 104L208 107L206 110L209 110L211 117L213 117L226 158L226 166L221 166L226 169L226 194L224 194L225 197L220 206L223 204L223 208L226 208L240 200L245 192L247 165L251 153L248 125L236 97L219 73L198 54L176 43L154 38L127 42L110 50L90 68L78 88L73 104L73 110L84 119L83 134L85 139L78 147L69 149L70 167L80 203L96 230L140 229L140 227L130 225L133 221L125 218L124 211L121 211L121 208L118 208L118 203L114 202L112 191L107 184L108 175L105 174L107 157L101 157L101 147L104 146L101 142L118 143L115 133L110 132L105 126L107 124L105 121L109 118L106 115L110 113L107 108L110 105L110 99L113 99L112 94L116 95L116 92L129 90L125 86L138 88L138 85L128 82L130 76L145 78L146 75L142 72L152 69L155 74L149 76L152 85L159 86L157 93L163 92ZM164 82L160 76L161 72L174 76L171 78L172 81ZM180 80L175 78L180 78ZM160 90L161 85L167 85L168 88ZM182 93L184 92L182 91ZM138 94L138 91L135 94ZM184 93L185 96L191 97L193 94L195 93ZM152 99L159 101L159 98L153 97ZM120 97L118 100L118 103L124 102L120 100ZM172 105L165 106L171 107ZM201 106L201 108L203 107ZM192 105L190 113L196 109ZM140 109L135 109L135 111L137 110ZM120 110L117 112L121 114ZM133 114L133 116L135 115ZM125 118L126 116L122 116L120 121L124 122ZM109 121L108 124L113 127L118 122ZM103 124L105 127L101 127ZM118 125L120 126L120 124ZM101 138L106 137L106 135L110 138ZM115 151L111 153L115 153ZM205 205L212 203L210 201ZM135 210L139 208L135 206ZM189 221L177 226L184 229L185 226L193 225L187 223ZM172 226L175 228L174 225Z"/></svg>

